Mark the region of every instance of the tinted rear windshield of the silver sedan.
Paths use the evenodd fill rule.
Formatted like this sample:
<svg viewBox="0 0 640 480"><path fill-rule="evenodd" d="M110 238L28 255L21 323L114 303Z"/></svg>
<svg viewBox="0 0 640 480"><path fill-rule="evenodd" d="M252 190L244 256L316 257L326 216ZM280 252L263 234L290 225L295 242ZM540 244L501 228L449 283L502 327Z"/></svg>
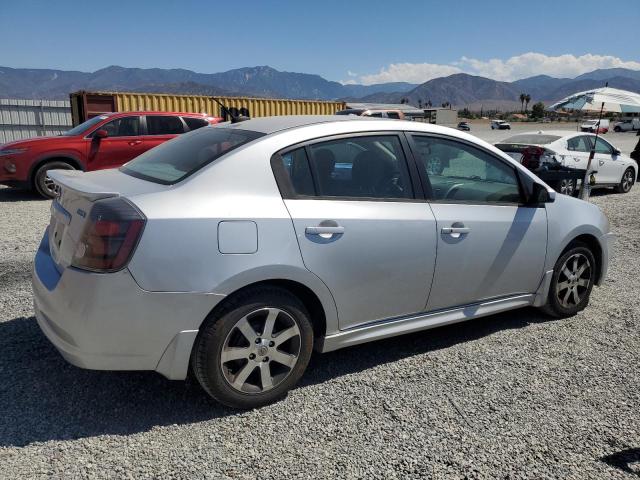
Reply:
<svg viewBox="0 0 640 480"><path fill-rule="evenodd" d="M171 185L264 133L205 127L186 133L143 153L120 167L132 177Z"/></svg>

